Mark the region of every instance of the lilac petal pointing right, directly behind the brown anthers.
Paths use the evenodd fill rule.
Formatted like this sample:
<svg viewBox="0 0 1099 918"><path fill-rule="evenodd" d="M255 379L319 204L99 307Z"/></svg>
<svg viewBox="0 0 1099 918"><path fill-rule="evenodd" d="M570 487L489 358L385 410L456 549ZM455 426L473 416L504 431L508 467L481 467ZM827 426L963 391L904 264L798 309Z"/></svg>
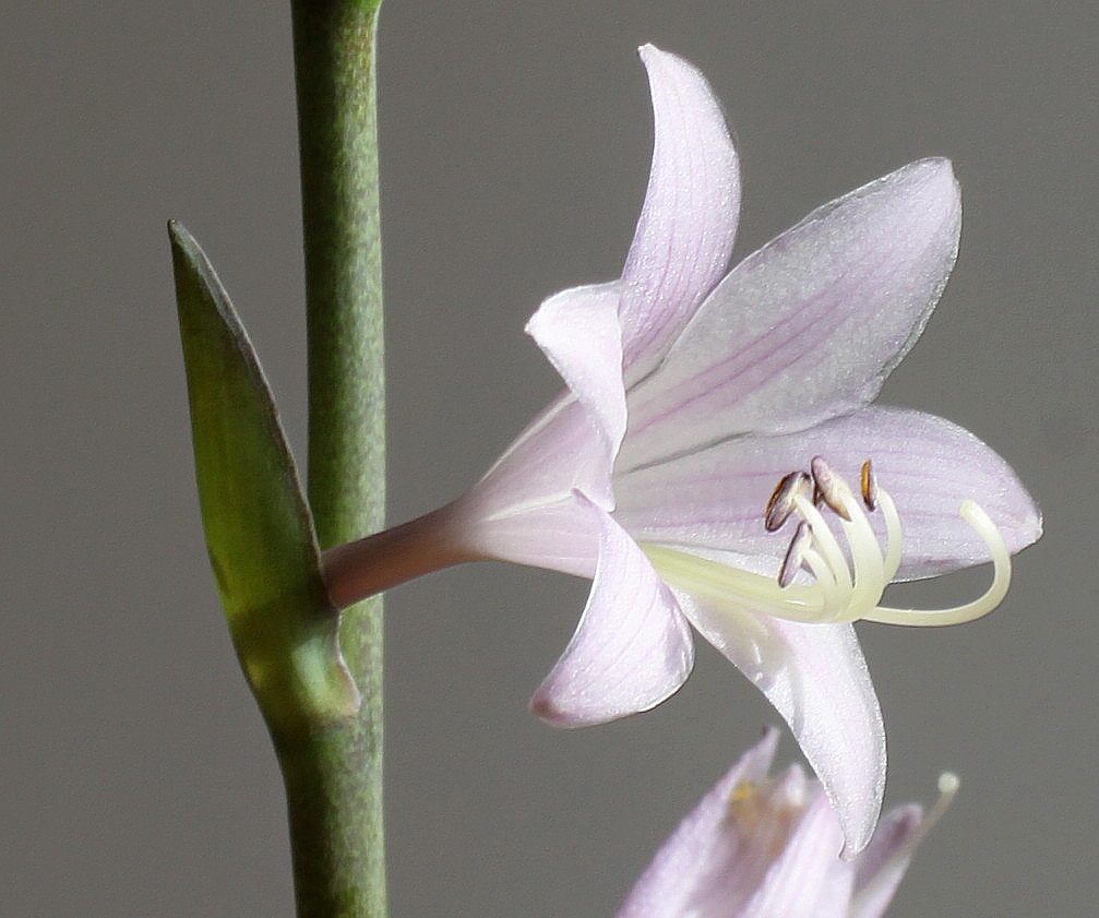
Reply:
<svg viewBox="0 0 1099 918"><path fill-rule="evenodd" d="M808 468L814 455L853 486L862 464L874 463L900 512L901 579L989 560L985 543L958 516L963 500L985 509L1011 552L1042 532L1033 500L993 450L943 418L879 407L793 434L730 440L620 476L615 519L641 542L728 551L736 566L774 574L789 535L764 530L764 506L778 479ZM869 519L884 537L880 513Z"/></svg>

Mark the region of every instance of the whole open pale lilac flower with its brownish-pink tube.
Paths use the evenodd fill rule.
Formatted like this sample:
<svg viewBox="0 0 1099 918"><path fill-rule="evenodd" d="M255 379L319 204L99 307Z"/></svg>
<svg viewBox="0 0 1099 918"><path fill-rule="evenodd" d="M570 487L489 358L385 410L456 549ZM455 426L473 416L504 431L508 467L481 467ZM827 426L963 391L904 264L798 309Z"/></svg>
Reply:
<svg viewBox="0 0 1099 918"><path fill-rule="evenodd" d="M855 851L880 808L885 734L851 622L983 615L1040 532L975 436L869 406L953 266L957 185L946 161L913 163L726 274L740 186L720 108L691 65L642 57L656 142L622 276L551 297L528 327L567 391L464 497L330 553L332 596L476 558L591 577L533 699L564 727L671 695L690 622L789 722ZM970 604L882 605L893 579L989 560L992 587Z"/></svg>

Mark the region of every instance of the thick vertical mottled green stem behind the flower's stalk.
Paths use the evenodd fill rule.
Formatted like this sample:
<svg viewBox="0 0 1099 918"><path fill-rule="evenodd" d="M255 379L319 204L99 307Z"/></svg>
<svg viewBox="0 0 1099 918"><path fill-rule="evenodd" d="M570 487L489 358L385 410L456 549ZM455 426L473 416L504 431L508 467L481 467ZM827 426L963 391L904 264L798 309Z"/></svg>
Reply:
<svg viewBox="0 0 1099 918"><path fill-rule="evenodd" d="M380 0L292 0L309 325L309 500L322 548L381 528L385 392L375 106ZM381 601L344 612L353 720L276 737L299 918L385 918Z"/></svg>

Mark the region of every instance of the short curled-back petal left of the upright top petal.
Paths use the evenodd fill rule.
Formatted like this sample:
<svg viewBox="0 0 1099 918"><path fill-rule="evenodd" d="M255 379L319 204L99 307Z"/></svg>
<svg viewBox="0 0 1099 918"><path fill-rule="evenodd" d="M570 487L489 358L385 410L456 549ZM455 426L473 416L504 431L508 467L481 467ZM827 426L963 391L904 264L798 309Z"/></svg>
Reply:
<svg viewBox="0 0 1099 918"><path fill-rule="evenodd" d="M618 284L574 287L550 297L526 333L584 406L613 460L625 434Z"/></svg>

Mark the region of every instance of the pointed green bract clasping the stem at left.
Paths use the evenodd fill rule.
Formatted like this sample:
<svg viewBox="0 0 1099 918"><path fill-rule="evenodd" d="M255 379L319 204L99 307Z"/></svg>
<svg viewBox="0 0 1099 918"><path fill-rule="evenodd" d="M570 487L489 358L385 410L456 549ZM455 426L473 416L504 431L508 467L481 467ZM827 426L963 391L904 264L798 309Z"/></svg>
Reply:
<svg viewBox="0 0 1099 918"><path fill-rule="evenodd" d="M270 389L202 250L168 232L202 526L237 656L273 731L349 716L358 690Z"/></svg>

